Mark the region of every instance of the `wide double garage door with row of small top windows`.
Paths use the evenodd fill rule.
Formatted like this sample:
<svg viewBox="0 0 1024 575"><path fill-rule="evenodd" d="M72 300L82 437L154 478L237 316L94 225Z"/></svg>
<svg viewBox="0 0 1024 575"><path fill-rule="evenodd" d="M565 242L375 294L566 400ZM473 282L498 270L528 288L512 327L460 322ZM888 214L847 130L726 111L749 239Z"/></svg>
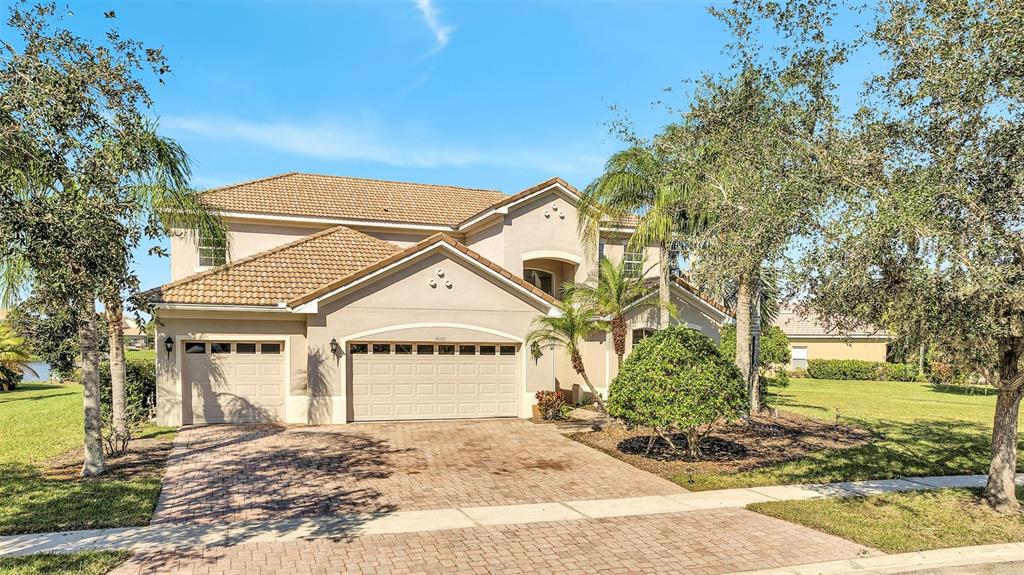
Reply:
<svg viewBox="0 0 1024 575"><path fill-rule="evenodd" d="M352 343L348 357L356 422L517 414L515 345Z"/></svg>

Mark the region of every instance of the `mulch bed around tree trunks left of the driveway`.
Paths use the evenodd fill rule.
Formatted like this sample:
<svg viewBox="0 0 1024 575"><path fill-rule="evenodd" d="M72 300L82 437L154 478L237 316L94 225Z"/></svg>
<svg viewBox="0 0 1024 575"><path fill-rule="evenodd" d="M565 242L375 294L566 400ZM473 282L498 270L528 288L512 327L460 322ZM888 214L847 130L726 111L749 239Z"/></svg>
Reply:
<svg viewBox="0 0 1024 575"><path fill-rule="evenodd" d="M174 448L174 442L167 437L143 437L134 439L128 445L128 452L117 457L106 457L106 473L101 479L143 479L162 478L167 457ZM77 447L48 461L43 470L48 479L72 481L80 479L82 472L83 447Z"/></svg>

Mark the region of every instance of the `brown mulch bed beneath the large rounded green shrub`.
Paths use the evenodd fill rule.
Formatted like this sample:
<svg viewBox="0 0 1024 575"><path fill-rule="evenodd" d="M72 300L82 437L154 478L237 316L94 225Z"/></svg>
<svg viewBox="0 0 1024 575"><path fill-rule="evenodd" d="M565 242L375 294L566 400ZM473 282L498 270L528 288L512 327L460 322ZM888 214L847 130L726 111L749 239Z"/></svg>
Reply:
<svg viewBox="0 0 1024 575"><path fill-rule="evenodd" d="M730 473L795 459L812 451L863 445L871 440L867 431L836 426L793 413L757 415L748 421L719 426L700 443L700 457L690 458L683 434L672 436L677 449L647 429L621 426L568 436L662 477L683 474Z"/></svg>

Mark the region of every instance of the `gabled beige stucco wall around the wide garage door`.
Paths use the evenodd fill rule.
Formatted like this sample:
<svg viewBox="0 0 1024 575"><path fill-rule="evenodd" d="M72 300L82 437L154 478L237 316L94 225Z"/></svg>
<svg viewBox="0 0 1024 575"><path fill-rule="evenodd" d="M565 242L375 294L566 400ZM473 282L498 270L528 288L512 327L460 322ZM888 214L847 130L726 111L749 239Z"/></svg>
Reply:
<svg viewBox="0 0 1024 575"><path fill-rule="evenodd" d="M437 271L443 272L443 277ZM436 288L429 282L434 280ZM444 285L452 282L452 288ZM309 359L309 422L341 422L349 417L350 390L346 384L349 340L388 341L521 341L547 306L509 292L489 274L435 251L404 268L351 293L322 303L306 327ZM388 336L384 330L395 330ZM367 335L375 331L376 336ZM398 338L398 340L392 339ZM331 340L344 347L339 357ZM525 373L520 411L528 414L531 391L550 385L550 357L534 361L521 350Z"/></svg>

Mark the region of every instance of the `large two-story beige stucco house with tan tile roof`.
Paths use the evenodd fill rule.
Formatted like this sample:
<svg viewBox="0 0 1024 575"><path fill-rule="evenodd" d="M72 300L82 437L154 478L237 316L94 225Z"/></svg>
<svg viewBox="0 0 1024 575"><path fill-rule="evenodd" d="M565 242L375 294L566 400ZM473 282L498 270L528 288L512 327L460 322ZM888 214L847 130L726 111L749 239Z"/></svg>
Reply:
<svg viewBox="0 0 1024 575"><path fill-rule="evenodd" d="M506 195L284 174L204 197L228 249L179 230L172 281L150 292L161 425L526 417L537 390L582 383L561 350L524 345L537 316L560 313L562 283L599 254L657 274L655 248L627 253L628 224L586 249L559 178ZM673 298L673 322L718 338L723 308L683 281ZM630 346L657 313L630 315ZM606 393L610 339L583 352Z"/></svg>

